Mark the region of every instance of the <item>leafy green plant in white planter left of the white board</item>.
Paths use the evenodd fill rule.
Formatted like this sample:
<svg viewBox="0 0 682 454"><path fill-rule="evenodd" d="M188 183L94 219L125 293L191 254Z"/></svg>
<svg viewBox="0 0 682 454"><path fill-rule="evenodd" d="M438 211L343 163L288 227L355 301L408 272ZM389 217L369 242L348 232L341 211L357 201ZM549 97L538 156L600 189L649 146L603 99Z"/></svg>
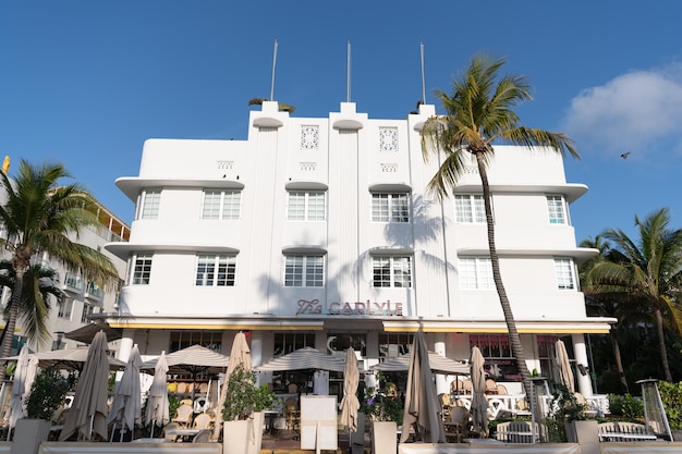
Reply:
<svg viewBox="0 0 682 454"><path fill-rule="evenodd" d="M264 424L261 412L272 407L275 393L267 384L257 386L256 375L244 370L241 365L228 378L227 386L222 407L223 453L259 453ZM226 443L227 440L230 442Z"/></svg>

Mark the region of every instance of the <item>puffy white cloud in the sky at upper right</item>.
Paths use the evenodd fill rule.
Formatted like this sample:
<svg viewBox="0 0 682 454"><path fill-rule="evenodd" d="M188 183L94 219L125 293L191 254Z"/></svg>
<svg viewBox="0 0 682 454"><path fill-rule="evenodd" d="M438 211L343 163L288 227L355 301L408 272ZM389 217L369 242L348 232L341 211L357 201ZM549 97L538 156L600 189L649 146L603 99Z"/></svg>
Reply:
<svg viewBox="0 0 682 454"><path fill-rule="evenodd" d="M562 130L581 149L619 156L665 145L670 152L680 152L681 70L682 65L670 65L632 72L583 90L572 99Z"/></svg>

